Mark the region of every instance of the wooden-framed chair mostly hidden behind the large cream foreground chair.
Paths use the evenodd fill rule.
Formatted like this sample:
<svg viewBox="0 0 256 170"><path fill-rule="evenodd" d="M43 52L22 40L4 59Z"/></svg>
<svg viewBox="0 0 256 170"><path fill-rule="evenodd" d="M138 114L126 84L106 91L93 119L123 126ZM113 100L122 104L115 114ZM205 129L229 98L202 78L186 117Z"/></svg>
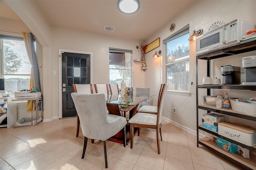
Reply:
<svg viewBox="0 0 256 170"><path fill-rule="evenodd" d="M92 94L92 84L72 84L73 90L76 93L83 93L83 94ZM79 116L76 113L76 137L79 135L79 129L80 129L80 120ZM92 143L94 143L94 140L92 139Z"/></svg>

